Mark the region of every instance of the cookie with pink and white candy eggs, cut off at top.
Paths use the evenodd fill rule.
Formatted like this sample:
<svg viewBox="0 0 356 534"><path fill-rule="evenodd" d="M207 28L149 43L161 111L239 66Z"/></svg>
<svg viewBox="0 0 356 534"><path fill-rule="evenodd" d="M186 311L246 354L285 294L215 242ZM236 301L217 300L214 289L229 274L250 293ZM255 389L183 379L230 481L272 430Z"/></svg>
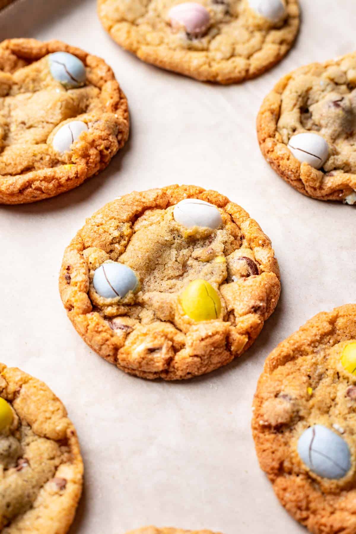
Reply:
<svg viewBox="0 0 356 534"><path fill-rule="evenodd" d="M196 80L241 82L271 68L299 28L297 0L98 0L114 41Z"/></svg>

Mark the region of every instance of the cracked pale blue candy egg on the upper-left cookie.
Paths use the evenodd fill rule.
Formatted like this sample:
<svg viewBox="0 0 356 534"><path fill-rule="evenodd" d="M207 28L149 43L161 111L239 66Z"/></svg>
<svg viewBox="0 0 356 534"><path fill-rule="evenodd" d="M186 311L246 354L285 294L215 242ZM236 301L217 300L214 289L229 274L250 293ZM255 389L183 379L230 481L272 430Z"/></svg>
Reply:
<svg viewBox="0 0 356 534"><path fill-rule="evenodd" d="M49 56L50 72L68 89L84 85L86 73L83 61L68 52L54 52Z"/></svg>

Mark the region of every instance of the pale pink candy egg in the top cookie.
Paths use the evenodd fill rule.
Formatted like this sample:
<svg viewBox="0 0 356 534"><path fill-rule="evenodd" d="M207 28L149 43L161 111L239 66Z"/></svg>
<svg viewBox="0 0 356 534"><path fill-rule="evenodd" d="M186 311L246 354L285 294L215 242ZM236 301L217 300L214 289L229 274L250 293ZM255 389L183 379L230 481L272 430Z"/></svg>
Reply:
<svg viewBox="0 0 356 534"><path fill-rule="evenodd" d="M184 2L173 6L168 18L174 30L184 27L190 35L201 35L209 28L209 11L196 2Z"/></svg>

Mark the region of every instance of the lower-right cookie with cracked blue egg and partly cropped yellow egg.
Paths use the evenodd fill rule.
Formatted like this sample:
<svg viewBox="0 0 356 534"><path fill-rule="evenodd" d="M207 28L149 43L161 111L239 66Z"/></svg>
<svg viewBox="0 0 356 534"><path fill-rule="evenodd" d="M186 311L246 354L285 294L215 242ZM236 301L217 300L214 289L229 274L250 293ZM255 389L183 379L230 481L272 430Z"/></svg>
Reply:
<svg viewBox="0 0 356 534"><path fill-rule="evenodd" d="M254 399L260 467L313 534L356 532L356 305L319 313L267 357Z"/></svg>

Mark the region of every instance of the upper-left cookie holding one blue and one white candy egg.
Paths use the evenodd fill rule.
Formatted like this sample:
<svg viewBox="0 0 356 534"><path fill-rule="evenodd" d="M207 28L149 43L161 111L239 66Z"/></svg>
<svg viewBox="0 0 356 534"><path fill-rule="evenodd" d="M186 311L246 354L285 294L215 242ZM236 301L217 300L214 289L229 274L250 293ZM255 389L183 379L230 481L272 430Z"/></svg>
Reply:
<svg viewBox="0 0 356 534"><path fill-rule="evenodd" d="M60 41L0 43L0 203L54 197L104 169L129 135L105 61Z"/></svg>

